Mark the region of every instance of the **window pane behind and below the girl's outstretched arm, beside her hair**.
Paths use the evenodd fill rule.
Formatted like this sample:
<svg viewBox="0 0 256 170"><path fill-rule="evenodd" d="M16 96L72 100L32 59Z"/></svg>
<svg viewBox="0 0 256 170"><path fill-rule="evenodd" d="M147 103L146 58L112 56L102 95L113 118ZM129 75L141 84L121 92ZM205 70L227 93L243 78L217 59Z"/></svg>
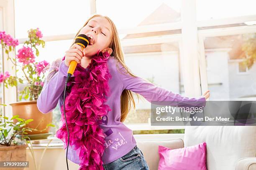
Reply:
<svg viewBox="0 0 256 170"><path fill-rule="evenodd" d="M150 38L146 40L151 41ZM135 75L166 90L184 94L178 42L128 46L123 50L125 63ZM146 99L138 101L136 95L134 100L136 110L128 114L124 123L150 122L151 103Z"/></svg>

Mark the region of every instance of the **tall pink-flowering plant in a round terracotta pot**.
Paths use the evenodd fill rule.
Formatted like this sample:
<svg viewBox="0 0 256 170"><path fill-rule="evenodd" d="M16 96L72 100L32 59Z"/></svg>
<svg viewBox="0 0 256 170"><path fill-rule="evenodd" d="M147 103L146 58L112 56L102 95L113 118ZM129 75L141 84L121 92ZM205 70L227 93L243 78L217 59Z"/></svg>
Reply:
<svg viewBox="0 0 256 170"><path fill-rule="evenodd" d="M19 92L19 102L11 103L13 109L13 115L20 115L23 119L33 119L29 125L30 128L38 129L39 131L29 131L29 135L44 133L49 133L49 128L41 131L46 127L47 124L52 121L52 112L48 114L41 113L36 105L36 100L43 88L45 72L44 68L49 65L46 60L36 62L35 55L39 55L38 46L42 45L44 47L45 42L41 40L43 37L42 32L36 29L28 30L28 40L24 42L23 47L18 50L16 56L10 56L9 52L13 51L15 47L19 44L17 39L14 39L10 35L6 35L5 32L0 31L0 39L2 49L5 50L7 54L7 60L13 63L13 67L16 67L22 71L22 76L10 75L9 72L0 74L0 82L3 82L5 87L16 86L18 82L24 84L25 87ZM24 82L23 82L24 81ZM23 99L23 101L21 101ZM24 101L28 100L28 101ZM46 136L47 138L47 136Z"/></svg>

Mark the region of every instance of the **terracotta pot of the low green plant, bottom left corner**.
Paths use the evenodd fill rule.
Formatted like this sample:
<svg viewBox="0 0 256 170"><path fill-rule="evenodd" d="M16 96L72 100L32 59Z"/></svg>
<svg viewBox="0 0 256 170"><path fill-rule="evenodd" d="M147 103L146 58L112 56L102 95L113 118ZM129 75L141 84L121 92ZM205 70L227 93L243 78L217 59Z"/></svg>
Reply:
<svg viewBox="0 0 256 170"><path fill-rule="evenodd" d="M26 161L27 145L0 145L0 161ZM0 168L1 170L24 170L24 168Z"/></svg>

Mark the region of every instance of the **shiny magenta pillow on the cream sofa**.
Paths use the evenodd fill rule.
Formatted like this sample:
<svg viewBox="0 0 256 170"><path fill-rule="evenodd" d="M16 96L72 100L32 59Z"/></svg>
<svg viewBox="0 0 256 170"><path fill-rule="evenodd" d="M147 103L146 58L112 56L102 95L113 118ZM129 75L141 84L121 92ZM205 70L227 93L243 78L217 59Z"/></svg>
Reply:
<svg viewBox="0 0 256 170"><path fill-rule="evenodd" d="M158 146L158 170L207 170L206 143L170 149Z"/></svg>

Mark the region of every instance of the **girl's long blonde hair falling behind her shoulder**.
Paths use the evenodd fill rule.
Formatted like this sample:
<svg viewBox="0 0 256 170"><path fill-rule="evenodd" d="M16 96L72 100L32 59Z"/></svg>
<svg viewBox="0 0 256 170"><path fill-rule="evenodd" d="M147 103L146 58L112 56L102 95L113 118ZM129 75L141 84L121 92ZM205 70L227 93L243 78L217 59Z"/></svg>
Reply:
<svg viewBox="0 0 256 170"><path fill-rule="evenodd" d="M120 64L123 65L123 67L125 68L125 70L127 72L126 73L129 73L131 76L133 77L137 77L136 75L134 75L130 70L129 68L125 65L125 62L124 62L124 58L123 58L123 50L122 50L122 47L121 47L121 44L120 44L120 40L119 40L119 36L118 36L118 30L116 29L115 27L115 24L113 23L113 21L108 18L107 16L102 16L102 15L99 15L99 14L96 14L96 15L92 15L85 23L84 25L82 26L82 28L84 28L85 25L87 25L87 23L92 19L92 18L95 18L95 17L104 17L108 20L108 22L110 23L111 25L111 29L113 31L113 37L112 37L112 40L110 42L110 48L113 50L111 56L114 56L115 59L118 60L118 62L120 62ZM82 28L80 30L82 30ZM77 35L79 34L80 30L77 32L77 34L75 35L75 37L77 37ZM72 45L73 45L74 41L72 42ZM120 69L118 67L118 63L117 63L117 68L118 70ZM120 70L119 70L120 71ZM122 73L122 72L120 72ZM138 97L138 99L140 98L140 95L138 95L137 93L135 93ZM121 117L120 117L120 122L124 122L125 121L125 118L127 117L128 115L128 112L130 112L131 108L133 107L133 109L135 109L135 102L134 102L134 99L133 99L133 92L130 91L130 90L123 90L122 94L121 94Z"/></svg>

